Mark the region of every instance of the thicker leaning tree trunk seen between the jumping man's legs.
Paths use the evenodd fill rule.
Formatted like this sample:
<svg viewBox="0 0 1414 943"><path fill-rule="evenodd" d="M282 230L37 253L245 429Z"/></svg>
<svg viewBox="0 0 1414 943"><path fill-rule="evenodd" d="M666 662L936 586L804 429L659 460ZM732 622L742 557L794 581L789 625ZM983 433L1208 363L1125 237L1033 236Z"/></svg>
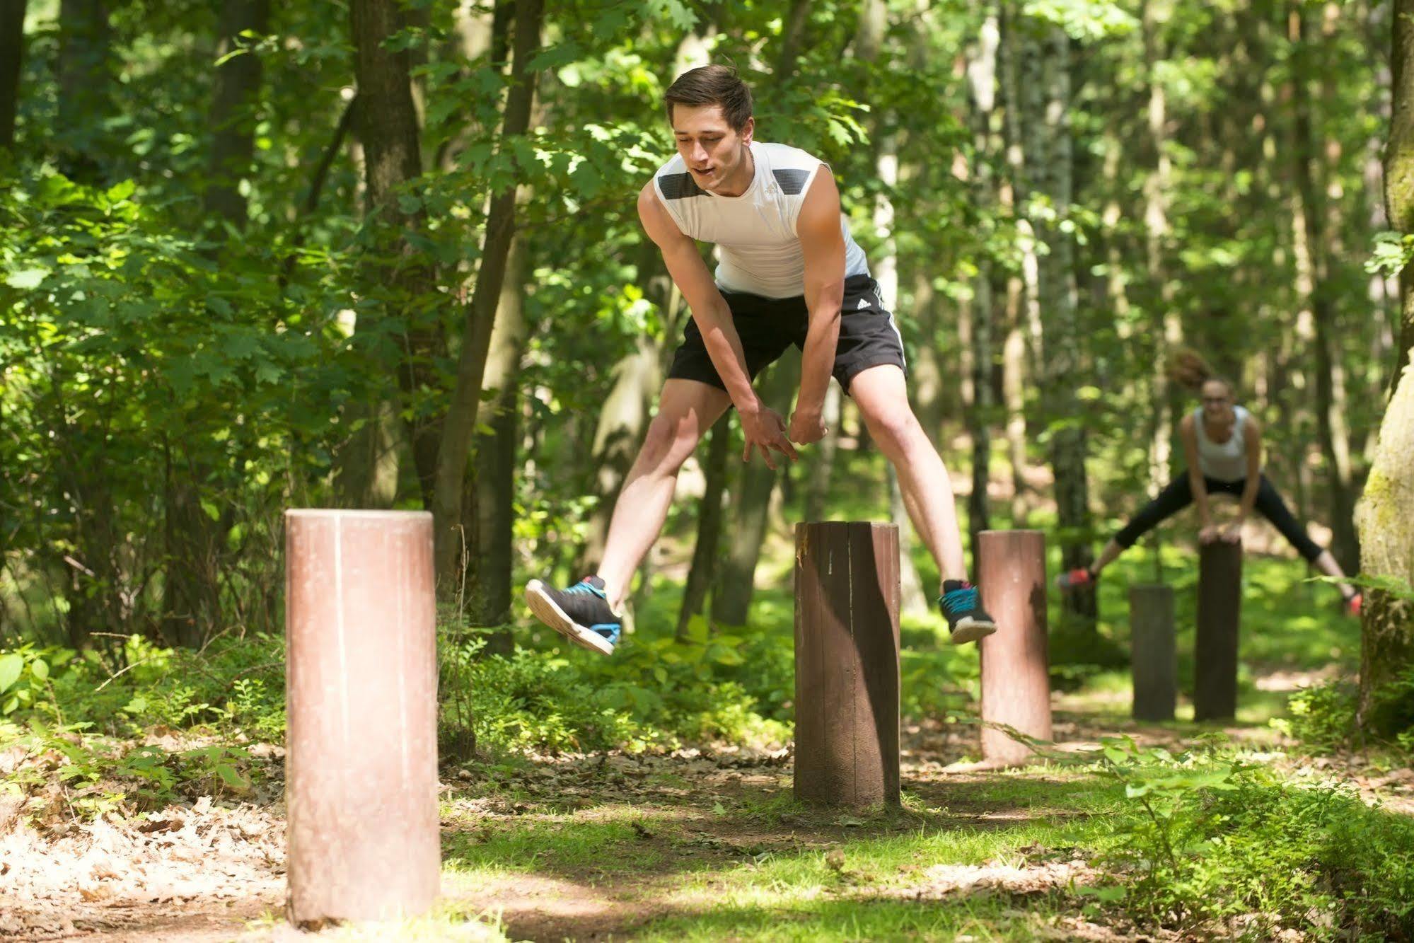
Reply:
<svg viewBox="0 0 1414 943"><path fill-rule="evenodd" d="M800 386L800 353L790 348L764 377L761 399L771 409L789 414L790 399ZM810 455L819 461L819 454ZM741 469L737 496L731 515L731 546L721 561L717 588L713 591L711 615L714 622L724 625L745 625L751 614L751 597L755 594L756 563L761 558L761 544L766 536L766 515L771 510L771 493L776 481L786 471L771 471L765 462L754 461Z"/></svg>

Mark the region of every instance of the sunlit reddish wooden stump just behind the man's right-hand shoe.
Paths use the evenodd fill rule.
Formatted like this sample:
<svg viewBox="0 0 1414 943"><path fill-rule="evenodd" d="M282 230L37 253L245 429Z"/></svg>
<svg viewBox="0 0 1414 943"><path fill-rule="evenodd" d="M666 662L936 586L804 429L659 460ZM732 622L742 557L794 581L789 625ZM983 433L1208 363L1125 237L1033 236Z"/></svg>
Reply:
<svg viewBox="0 0 1414 943"><path fill-rule="evenodd" d="M983 530L977 582L997 632L981 648L981 755L988 763L1027 762L1031 749L993 724L1051 739L1046 655L1046 539L1039 530Z"/></svg>

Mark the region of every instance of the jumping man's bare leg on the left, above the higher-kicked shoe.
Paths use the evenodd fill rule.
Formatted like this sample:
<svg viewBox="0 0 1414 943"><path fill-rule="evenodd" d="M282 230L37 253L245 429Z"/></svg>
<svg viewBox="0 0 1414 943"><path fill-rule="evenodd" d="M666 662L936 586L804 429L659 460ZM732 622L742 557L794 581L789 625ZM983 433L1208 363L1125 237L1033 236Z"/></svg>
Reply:
<svg viewBox="0 0 1414 943"><path fill-rule="evenodd" d="M672 379L663 385L658 416L648 426L643 445L624 479L600 561L600 578L615 611L628 595L628 584L667 520L677 471L697 448L731 397L708 383Z"/></svg>

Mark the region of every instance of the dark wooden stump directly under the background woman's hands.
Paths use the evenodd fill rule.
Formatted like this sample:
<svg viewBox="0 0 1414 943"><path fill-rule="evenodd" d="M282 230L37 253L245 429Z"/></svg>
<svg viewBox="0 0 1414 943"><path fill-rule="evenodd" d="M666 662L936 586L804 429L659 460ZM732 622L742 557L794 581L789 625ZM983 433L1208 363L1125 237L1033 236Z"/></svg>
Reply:
<svg viewBox="0 0 1414 943"><path fill-rule="evenodd" d="M1237 622L1241 614L1241 543L1215 540L1198 553L1198 640L1193 650L1193 720L1237 713Z"/></svg>

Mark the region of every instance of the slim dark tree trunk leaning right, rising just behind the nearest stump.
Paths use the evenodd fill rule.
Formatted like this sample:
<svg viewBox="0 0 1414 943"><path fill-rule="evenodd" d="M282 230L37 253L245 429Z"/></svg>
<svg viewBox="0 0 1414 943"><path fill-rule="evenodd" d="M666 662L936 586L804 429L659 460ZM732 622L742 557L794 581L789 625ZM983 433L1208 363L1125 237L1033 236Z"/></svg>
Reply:
<svg viewBox="0 0 1414 943"><path fill-rule="evenodd" d="M510 139L526 133L530 106L534 99L534 72L530 58L540 48L540 27L544 17L543 0L523 0L516 4L516 25L510 64L510 92L501 127L501 146L509 148ZM461 523L461 495L467 475L467 447L477 427L481 402L481 380L486 369L486 348L496 317L501 284L505 280L506 256L515 235L516 185L503 187L491 199L486 216L486 238L482 245L477 286L462 327L461 353L457 359L457 383L443 426L437 448L437 475L433 489L433 526L437 537L437 580L444 592L451 590L457 574L460 550L457 525Z"/></svg>

